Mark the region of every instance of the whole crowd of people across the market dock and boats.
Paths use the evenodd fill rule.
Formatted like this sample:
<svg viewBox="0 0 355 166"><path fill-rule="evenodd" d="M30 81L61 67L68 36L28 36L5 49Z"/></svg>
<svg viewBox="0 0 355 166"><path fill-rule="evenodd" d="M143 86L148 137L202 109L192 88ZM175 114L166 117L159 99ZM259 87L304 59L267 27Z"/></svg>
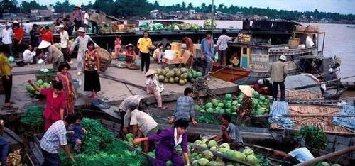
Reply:
<svg viewBox="0 0 355 166"><path fill-rule="evenodd" d="M6 28L1 32L2 43L0 53L0 75L5 87L5 104L3 109L14 109L13 102L10 100L12 87L11 65L8 57L18 57L19 45L22 45L23 32L31 36L31 43L23 52L23 62L31 64L38 55L47 56L47 60L53 63L53 70L58 72L55 81L52 82L52 87L41 88L34 84L31 80L28 81L36 91L45 96L45 111L43 116L45 119L44 130L45 135L40 140L43 157L45 159L43 165L59 165L60 158L58 150L60 146L65 149L67 155L72 161L74 157L70 153L70 148L67 145L68 140L72 143L76 153L80 153L83 143L83 134L87 134L89 128L82 128L80 121L82 115L75 113L75 102L77 101L77 92L73 84L72 74L69 72L70 65L73 64L70 55L77 48L77 75L84 73L84 91L90 92L89 98L97 98L101 90L99 72L100 72L100 56L99 45L94 43L94 40L87 35L89 23L92 24L92 33L97 31L97 23L100 22L99 11L88 14L89 11L83 12L80 6L75 6L72 16L58 18L53 24L55 31L60 33L60 49L53 44L53 34L48 26L39 28L38 25L26 23L25 31L18 23L6 24ZM12 28L11 28L12 26ZM78 34L72 43L69 45L70 35L73 30ZM226 35L224 29L222 35L217 40L217 47L214 46L212 31L207 31L206 37L201 40L200 58L204 61L206 68L204 75L211 74L214 58L218 58L221 65L230 65L231 60L227 60L227 42L233 38ZM195 45L191 38L185 37L182 40L186 43L186 49L192 52L192 56L196 55ZM153 41L149 38L148 31L143 33L136 45L128 44L122 46L122 38L117 35L114 40L114 58L118 59L120 53L126 54L126 62L136 63L136 48L137 55L141 57L141 72L146 75L146 93L148 96L155 96L157 107L165 109L163 106L161 93L164 90L162 84L159 83L157 72L150 69L151 57L160 64L163 60L165 50L170 50L170 43L159 43L153 45ZM217 48L217 50L214 50ZM13 51L16 50L16 51ZM218 56L215 56L218 52ZM271 81L261 79L254 84L254 89L260 94L272 95L273 100L277 100L278 86L281 90L281 101L285 101L285 77L287 72L285 69L286 57L280 56L278 62L271 65L270 74ZM193 58L190 61L190 67L193 67ZM251 113L251 87L239 86L241 92L244 93L244 98L241 106L241 118L249 116ZM119 114L121 116L121 129L123 133L133 134L134 145L143 143L143 152L148 153L151 150L150 142L158 142L155 146L155 165L165 165L168 160L171 160L174 165L190 165L189 154L187 150L187 128L189 123L192 126L198 126L194 111L194 92L193 89L187 87L184 91L184 96L180 96L176 102L175 112L171 115L168 123L173 124L172 128L168 128L158 133L158 123L147 114L144 110L148 101L143 96L129 96L119 106ZM241 148L244 146L243 138L239 126L231 123L231 116L223 114L219 119L221 131L215 138L216 141L229 143L231 146ZM68 129L67 129L68 128ZM131 128L131 130L129 130ZM0 136L0 143L3 138ZM1 144L2 145L2 144ZM176 152L175 147L181 145L182 155L185 159L182 160ZM297 142L296 150L289 154L275 152L275 155L283 155L284 157L295 157L298 162L304 162L312 159L312 154L307 151L300 141ZM4 163L1 155L1 162Z"/></svg>

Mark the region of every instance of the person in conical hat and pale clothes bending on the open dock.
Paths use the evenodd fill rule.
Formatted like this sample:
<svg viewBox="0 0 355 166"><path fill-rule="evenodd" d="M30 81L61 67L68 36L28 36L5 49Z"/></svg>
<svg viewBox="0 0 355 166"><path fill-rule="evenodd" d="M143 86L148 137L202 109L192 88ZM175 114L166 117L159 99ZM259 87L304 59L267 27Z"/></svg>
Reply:
<svg viewBox="0 0 355 166"><path fill-rule="evenodd" d="M156 77L156 71L155 70L148 70L146 74L146 86L147 86L147 94L148 95L154 95L155 99L158 103L158 108L162 109L162 100L161 100L161 95L160 92L163 92L164 87L163 85L159 84L158 77Z"/></svg>

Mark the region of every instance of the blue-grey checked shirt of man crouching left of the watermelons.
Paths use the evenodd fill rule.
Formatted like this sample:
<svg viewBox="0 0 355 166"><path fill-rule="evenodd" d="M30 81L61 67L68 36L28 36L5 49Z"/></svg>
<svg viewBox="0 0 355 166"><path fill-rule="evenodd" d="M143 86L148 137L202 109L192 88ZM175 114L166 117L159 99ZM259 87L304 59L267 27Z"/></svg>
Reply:
<svg viewBox="0 0 355 166"><path fill-rule="evenodd" d="M190 120L191 117L195 117L194 99L190 96L180 96L178 101L176 101L174 117L175 120L180 118Z"/></svg>

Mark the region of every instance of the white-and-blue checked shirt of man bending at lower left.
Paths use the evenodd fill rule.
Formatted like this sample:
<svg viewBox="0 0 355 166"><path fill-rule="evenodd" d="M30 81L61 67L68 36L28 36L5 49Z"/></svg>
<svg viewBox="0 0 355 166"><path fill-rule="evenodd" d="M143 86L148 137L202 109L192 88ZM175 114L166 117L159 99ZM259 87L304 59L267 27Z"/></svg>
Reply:
<svg viewBox="0 0 355 166"><path fill-rule="evenodd" d="M59 145L67 145L67 131L62 120L53 123L40 140L40 148L48 153L58 153Z"/></svg>

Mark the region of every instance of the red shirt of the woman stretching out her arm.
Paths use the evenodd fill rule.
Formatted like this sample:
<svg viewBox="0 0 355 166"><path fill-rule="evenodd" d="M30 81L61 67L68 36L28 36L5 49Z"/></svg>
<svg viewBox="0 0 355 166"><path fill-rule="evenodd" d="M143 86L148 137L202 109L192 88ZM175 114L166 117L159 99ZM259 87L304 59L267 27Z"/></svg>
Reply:
<svg viewBox="0 0 355 166"><path fill-rule="evenodd" d="M62 92L57 97L53 98L53 89L45 88L40 91L40 94L45 96L45 111L43 116L45 119L52 121L60 120L60 109L65 109L65 94Z"/></svg>

